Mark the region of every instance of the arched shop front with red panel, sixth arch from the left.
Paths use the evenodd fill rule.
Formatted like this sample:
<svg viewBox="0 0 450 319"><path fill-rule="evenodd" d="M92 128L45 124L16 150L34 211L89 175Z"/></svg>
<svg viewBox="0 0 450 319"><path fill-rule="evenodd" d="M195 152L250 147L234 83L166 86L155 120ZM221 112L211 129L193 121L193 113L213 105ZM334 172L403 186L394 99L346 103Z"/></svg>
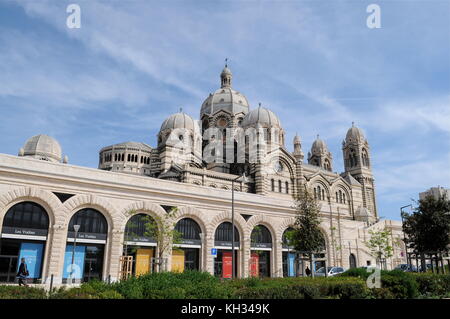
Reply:
<svg viewBox="0 0 450 319"><path fill-rule="evenodd" d="M260 278L270 277L272 235L267 227L258 225L253 228L250 250L250 276Z"/></svg>

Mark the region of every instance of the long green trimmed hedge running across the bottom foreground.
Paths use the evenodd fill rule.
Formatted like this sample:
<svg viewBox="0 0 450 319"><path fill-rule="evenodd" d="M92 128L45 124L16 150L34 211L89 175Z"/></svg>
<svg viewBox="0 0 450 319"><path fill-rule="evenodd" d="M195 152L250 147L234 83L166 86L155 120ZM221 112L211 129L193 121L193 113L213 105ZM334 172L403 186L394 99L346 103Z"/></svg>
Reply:
<svg viewBox="0 0 450 319"><path fill-rule="evenodd" d="M153 273L78 288L0 286L0 299L350 299L450 297L450 275L381 271L381 288L369 289L370 273L351 269L335 277L246 278L222 280L206 272Z"/></svg>

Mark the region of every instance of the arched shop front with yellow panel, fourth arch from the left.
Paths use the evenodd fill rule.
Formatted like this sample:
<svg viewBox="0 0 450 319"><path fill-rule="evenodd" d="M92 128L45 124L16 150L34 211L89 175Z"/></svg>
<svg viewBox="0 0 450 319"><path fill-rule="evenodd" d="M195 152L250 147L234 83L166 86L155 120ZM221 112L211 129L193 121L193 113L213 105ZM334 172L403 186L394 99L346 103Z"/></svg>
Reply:
<svg viewBox="0 0 450 319"><path fill-rule="evenodd" d="M200 226L191 218L183 218L175 225L175 231L180 234L180 239L172 248L172 271L200 270Z"/></svg>

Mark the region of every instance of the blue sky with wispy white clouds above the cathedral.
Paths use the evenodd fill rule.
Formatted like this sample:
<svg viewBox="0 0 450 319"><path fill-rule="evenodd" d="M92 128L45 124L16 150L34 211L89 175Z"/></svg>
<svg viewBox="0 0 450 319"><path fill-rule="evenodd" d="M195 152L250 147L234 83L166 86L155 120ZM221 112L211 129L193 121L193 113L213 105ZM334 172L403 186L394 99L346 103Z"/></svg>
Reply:
<svg viewBox="0 0 450 319"><path fill-rule="evenodd" d="M81 7L68 29L66 7ZM366 7L381 7L381 28ZM229 58L233 87L273 110L292 150L317 134L343 170L352 121L380 216L450 187L450 1L0 1L0 152L55 137L97 167L123 141L156 144L180 107L198 118Z"/></svg>

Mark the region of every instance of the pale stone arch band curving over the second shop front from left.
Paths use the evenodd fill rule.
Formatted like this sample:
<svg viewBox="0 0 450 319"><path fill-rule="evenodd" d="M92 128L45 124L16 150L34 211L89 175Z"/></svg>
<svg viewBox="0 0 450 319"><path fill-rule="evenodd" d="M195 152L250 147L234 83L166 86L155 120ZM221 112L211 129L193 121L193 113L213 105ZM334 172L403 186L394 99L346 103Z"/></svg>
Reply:
<svg viewBox="0 0 450 319"><path fill-rule="evenodd" d="M92 194L76 195L68 199L63 204L65 211L61 214L58 222L67 228L72 216L83 208L93 208L105 216L108 222L108 232L118 230L118 227L124 222L124 217L117 214L117 210L106 200Z"/></svg>

